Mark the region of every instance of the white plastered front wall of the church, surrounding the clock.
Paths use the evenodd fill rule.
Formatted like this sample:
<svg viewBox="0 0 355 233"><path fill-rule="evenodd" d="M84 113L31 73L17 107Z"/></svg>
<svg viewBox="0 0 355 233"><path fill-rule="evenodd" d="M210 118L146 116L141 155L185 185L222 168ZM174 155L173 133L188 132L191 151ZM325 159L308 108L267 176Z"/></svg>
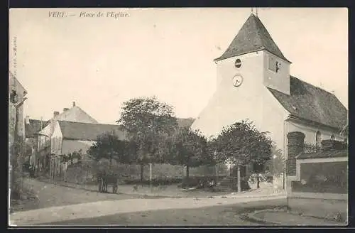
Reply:
<svg viewBox="0 0 355 233"><path fill-rule="evenodd" d="M280 81L283 88L289 88L290 72L288 63L280 72L271 74L268 70L268 52L258 51L228 58L217 63L218 86L207 107L192 124L192 129L200 129L207 136L219 134L223 126L250 119L260 131L269 131L278 149L285 151L284 121L288 112L281 106L271 92L266 88L266 75ZM234 66L235 60L241 60L241 67ZM244 82L234 87L232 78L240 74ZM271 80L271 81L273 81ZM277 85L278 82L268 84ZM275 86L274 85L274 86Z"/></svg>

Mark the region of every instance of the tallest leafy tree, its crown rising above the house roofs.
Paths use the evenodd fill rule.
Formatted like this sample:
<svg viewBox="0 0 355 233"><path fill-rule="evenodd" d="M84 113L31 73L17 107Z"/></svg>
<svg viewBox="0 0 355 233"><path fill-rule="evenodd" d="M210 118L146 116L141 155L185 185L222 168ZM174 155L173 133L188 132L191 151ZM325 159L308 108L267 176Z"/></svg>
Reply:
<svg viewBox="0 0 355 233"><path fill-rule="evenodd" d="M159 102L155 97L141 97L124 102L121 117L117 123L129 134L129 140L136 144L136 162L143 166L147 163L163 162L165 139L173 135L178 122L173 107Z"/></svg>

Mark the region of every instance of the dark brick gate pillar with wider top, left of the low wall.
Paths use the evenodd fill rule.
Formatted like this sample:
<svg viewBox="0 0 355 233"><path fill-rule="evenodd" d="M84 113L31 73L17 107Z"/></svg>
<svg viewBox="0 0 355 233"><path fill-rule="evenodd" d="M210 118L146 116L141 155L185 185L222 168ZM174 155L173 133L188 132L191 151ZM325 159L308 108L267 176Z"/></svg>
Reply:
<svg viewBox="0 0 355 233"><path fill-rule="evenodd" d="M296 175L296 156L303 152L305 134L295 131L288 133L288 159L286 161L286 174Z"/></svg>

